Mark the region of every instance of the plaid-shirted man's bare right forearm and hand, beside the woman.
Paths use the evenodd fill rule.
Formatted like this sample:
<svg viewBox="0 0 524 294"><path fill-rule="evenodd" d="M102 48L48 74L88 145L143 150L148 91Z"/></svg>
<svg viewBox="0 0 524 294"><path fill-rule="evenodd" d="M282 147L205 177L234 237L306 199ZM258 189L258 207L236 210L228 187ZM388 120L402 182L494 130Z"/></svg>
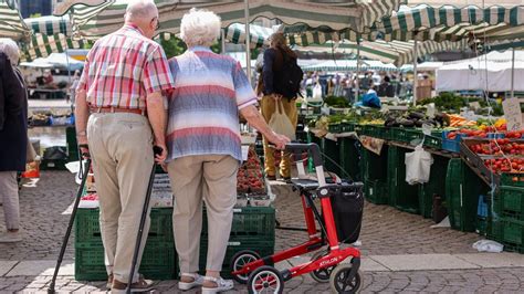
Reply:
<svg viewBox="0 0 524 294"><path fill-rule="evenodd" d="M163 153L156 156L156 161L163 162L167 158L167 111L164 107L164 96L161 95L161 92L153 92L147 95L147 117L153 128L155 138L154 145L163 149Z"/></svg>

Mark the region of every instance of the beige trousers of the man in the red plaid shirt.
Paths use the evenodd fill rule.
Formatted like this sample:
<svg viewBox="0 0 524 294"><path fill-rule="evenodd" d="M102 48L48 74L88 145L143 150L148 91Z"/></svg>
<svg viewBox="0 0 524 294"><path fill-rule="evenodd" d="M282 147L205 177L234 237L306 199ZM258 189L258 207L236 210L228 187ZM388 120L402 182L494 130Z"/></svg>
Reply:
<svg viewBox="0 0 524 294"><path fill-rule="evenodd" d="M99 198L107 273L127 283L154 165L151 128L147 118L138 114L95 113L87 122L87 140ZM149 222L148 211L137 271ZM135 272L134 280L137 277Z"/></svg>

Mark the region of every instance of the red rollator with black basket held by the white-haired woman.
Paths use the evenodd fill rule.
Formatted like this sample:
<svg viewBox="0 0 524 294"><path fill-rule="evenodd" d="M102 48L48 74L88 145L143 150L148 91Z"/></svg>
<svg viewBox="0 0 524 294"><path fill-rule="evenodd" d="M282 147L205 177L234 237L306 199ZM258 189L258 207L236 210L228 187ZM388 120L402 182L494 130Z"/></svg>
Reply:
<svg viewBox="0 0 524 294"><path fill-rule="evenodd" d="M231 260L232 275L239 283L248 284L250 293L282 293L285 281L306 273L317 282L329 283L334 293L356 293L363 284L360 251L347 244L357 241L360 233L363 183L327 185L316 144L289 144L286 150L293 154L298 175L302 175L292 179L292 183L300 190L308 240L271 256L261 258L249 250L238 252ZM317 180L304 177L301 159L305 151L313 158ZM315 207L315 199L319 199L321 210ZM273 266L313 251L317 252L304 264L283 271Z"/></svg>

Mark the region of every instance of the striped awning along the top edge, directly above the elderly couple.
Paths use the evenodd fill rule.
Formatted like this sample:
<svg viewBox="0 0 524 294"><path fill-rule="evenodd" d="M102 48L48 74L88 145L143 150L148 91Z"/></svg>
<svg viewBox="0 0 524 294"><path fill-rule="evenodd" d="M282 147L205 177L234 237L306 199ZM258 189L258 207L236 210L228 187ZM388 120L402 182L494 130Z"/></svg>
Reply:
<svg viewBox="0 0 524 294"><path fill-rule="evenodd" d="M71 11L72 22L81 35L96 39L114 32L123 24L126 0L96 1L70 0L60 4L56 13ZM244 1L184 1L157 0L161 32L178 33L181 17L192 7L214 11L223 27L244 22ZM333 30L364 31L376 20L397 10L404 0L374 1L316 1L316 0L251 0L250 21L256 18L280 19L284 23L304 23L311 28L326 27ZM84 3L84 4L83 4ZM76 27L77 25L77 27Z"/></svg>

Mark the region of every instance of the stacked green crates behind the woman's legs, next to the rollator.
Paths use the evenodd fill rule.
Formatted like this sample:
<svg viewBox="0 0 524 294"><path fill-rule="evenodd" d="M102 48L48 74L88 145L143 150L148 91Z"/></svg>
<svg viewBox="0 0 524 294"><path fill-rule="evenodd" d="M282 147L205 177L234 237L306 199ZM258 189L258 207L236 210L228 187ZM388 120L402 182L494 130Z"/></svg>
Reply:
<svg viewBox="0 0 524 294"><path fill-rule="evenodd" d="M217 232L220 233L220 232ZM208 252L208 220L203 213L202 234L200 240L200 271L206 271ZM274 253L275 245L275 209L272 207L245 207L233 210L233 223L229 237L228 250L222 264L222 276L231 277L231 258L242 250L252 250L260 256Z"/></svg>

